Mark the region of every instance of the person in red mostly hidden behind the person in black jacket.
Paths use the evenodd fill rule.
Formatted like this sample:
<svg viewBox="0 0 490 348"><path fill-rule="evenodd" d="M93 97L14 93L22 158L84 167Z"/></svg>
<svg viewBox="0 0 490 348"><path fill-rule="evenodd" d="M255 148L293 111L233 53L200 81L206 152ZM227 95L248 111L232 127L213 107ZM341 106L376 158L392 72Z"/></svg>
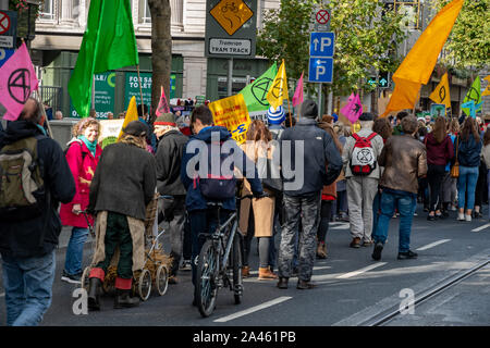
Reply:
<svg viewBox="0 0 490 348"><path fill-rule="evenodd" d="M333 129L333 117L330 115L323 115L318 126L326 130L335 144L335 148L342 153L343 146L339 141L335 130ZM339 177L342 178L342 177ZM339 181L339 179L338 179ZM330 217L332 215L332 204L336 200L336 182L328 186L323 186L321 191L321 207L320 207L320 225L317 229L317 258L327 258L327 244L326 237L329 231Z"/></svg>

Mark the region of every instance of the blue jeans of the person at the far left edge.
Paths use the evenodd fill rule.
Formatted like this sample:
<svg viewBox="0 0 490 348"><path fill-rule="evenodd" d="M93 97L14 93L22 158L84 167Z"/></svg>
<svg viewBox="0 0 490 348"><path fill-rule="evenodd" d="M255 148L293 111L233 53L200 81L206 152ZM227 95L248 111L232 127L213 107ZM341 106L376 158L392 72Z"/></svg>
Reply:
<svg viewBox="0 0 490 348"><path fill-rule="evenodd" d="M3 257L7 325L36 326L51 306L56 249L41 258Z"/></svg>

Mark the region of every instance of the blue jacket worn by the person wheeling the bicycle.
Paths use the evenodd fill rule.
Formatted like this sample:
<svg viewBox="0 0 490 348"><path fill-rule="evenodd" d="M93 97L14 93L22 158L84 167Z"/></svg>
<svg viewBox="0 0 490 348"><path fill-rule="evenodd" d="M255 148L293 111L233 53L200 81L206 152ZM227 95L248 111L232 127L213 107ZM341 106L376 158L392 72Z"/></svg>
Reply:
<svg viewBox="0 0 490 348"><path fill-rule="evenodd" d="M208 200L201 195L199 181L194 176L196 173L187 173L187 164L191 160L197 159L197 154L199 153L199 141L204 141L207 144L211 142L211 136L219 136L219 140L221 142L224 141L233 141L234 140L230 136L230 132L221 126L212 126L203 128L197 135L189 137L189 140L185 145L184 153L182 157L182 166L181 166L181 179L184 184L184 187L187 190L187 196L185 198L185 206L187 211L193 210L205 210L207 209ZM246 176L248 183L250 184L252 191L254 194L262 194L262 185L260 179L258 178L257 169L255 163L246 157L243 150L236 145L233 146L234 153L234 166ZM226 152L230 153L230 152ZM191 163L192 164L192 163ZM199 170L199 163L194 163L191 166L191 171ZM248 174L247 174L248 172ZM191 176L189 176L191 175ZM225 210L235 210L236 203L235 198L230 198L228 200L222 201L223 209Z"/></svg>

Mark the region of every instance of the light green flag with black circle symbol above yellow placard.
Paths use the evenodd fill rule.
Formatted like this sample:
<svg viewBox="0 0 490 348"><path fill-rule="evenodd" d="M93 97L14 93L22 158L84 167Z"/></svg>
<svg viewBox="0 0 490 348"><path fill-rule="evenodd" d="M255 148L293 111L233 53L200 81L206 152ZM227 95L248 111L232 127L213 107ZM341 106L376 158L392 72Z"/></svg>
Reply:
<svg viewBox="0 0 490 348"><path fill-rule="evenodd" d="M277 74L278 65L274 62L267 72L238 92L243 95L248 112L269 109L270 104L267 100L267 94Z"/></svg>

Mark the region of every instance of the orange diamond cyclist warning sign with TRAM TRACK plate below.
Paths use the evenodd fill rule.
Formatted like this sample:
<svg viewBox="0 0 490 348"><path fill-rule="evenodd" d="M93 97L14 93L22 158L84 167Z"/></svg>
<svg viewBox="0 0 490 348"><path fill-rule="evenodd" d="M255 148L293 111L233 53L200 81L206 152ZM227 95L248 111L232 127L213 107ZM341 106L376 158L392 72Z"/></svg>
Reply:
<svg viewBox="0 0 490 348"><path fill-rule="evenodd" d="M257 0L207 0L206 13L206 57L255 59Z"/></svg>

